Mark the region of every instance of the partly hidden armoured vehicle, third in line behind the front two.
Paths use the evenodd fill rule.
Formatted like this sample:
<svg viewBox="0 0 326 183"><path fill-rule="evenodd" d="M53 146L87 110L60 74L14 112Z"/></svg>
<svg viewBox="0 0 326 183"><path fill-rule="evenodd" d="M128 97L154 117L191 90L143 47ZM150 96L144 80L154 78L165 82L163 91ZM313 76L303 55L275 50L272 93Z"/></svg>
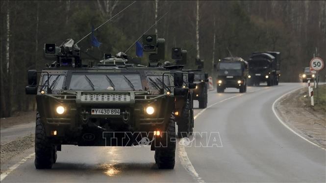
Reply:
<svg viewBox="0 0 326 183"><path fill-rule="evenodd" d="M203 68L203 61L196 59L196 70L191 70L195 73L196 89L193 91L193 99L198 100L199 108L204 109L207 107L208 100L208 73L205 73L201 69Z"/></svg>

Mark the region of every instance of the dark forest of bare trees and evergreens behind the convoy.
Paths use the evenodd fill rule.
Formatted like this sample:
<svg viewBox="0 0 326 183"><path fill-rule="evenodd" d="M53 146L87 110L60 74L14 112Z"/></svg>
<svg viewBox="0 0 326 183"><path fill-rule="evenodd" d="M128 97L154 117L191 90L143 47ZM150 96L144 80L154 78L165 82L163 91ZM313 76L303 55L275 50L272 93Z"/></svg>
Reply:
<svg viewBox="0 0 326 183"><path fill-rule="evenodd" d="M60 45L66 38L81 39L132 1L14 1L2 0L0 31L1 117L35 108L25 95L28 69L42 69L45 43ZM197 11L198 10L198 11ZM171 47L188 50L188 68L196 57L212 74L213 61L229 55L247 59L253 51L282 53L282 82L297 82L313 55L326 58L326 1L137 1L78 44L87 59L125 51L145 30L157 31ZM197 36L198 35L198 39ZM197 44L199 47L197 47ZM88 53L99 53L89 54ZM127 52L135 56L134 46ZM325 71L322 72L325 77Z"/></svg>

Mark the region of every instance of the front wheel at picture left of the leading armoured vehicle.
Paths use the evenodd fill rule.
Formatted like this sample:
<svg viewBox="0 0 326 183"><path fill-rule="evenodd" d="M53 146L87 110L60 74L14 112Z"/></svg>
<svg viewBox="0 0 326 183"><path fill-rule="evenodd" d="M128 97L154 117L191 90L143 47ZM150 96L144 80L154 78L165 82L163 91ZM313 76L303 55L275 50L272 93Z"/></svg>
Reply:
<svg viewBox="0 0 326 183"><path fill-rule="evenodd" d="M35 168L50 169L56 161L56 148L46 137L45 128L41 121L40 114L36 113L35 128Z"/></svg>

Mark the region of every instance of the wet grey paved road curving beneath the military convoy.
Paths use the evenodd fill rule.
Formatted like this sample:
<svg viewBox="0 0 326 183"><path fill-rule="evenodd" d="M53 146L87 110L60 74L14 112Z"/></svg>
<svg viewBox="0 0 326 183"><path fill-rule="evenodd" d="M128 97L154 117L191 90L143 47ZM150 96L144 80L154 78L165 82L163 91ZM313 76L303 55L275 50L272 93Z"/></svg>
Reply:
<svg viewBox="0 0 326 183"><path fill-rule="evenodd" d="M219 132L223 147L177 144L174 170L157 169L149 148L63 146L51 170L36 170L32 157L2 182L326 182L326 151L290 132L272 111L279 96L302 86L210 92L209 108L195 110L195 131Z"/></svg>

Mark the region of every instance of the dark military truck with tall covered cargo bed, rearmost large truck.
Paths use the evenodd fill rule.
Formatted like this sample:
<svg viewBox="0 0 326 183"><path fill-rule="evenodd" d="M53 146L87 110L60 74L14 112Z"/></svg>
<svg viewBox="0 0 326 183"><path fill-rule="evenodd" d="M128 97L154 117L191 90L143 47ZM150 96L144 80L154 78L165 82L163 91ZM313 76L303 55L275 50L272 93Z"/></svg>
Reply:
<svg viewBox="0 0 326 183"><path fill-rule="evenodd" d="M267 86L278 85L280 74L280 52L253 52L248 60L248 85L259 86L266 82Z"/></svg>

